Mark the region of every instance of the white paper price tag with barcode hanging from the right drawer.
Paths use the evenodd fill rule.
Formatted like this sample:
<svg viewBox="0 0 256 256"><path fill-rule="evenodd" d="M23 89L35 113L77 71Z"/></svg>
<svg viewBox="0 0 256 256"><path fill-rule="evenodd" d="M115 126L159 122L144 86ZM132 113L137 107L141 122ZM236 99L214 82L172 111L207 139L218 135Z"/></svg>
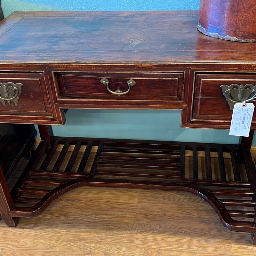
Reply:
<svg viewBox="0 0 256 256"><path fill-rule="evenodd" d="M253 111L253 103L246 103L245 106L241 106L241 103L236 103L233 109L229 135L248 137Z"/></svg>

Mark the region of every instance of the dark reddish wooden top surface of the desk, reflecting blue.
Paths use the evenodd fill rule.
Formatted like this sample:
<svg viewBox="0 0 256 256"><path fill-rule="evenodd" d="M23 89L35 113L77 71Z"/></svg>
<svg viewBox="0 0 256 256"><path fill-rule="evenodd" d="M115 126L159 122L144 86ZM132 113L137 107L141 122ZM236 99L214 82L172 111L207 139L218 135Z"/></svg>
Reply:
<svg viewBox="0 0 256 256"><path fill-rule="evenodd" d="M2 63L255 62L256 44L205 36L197 11L14 12Z"/></svg>

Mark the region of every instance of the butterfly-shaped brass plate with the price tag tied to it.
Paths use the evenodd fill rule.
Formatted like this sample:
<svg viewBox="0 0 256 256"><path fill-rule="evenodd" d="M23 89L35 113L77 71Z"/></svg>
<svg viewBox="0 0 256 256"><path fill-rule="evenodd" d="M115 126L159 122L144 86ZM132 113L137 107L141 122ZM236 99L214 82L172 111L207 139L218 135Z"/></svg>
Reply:
<svg viewBox="0 0 256 256"><path fill-rule="evenodd" d="M231 110L235 103L242 103L244 100L250 100L256 96L256 85L253 84L223 84L220 87Z"/></svg>

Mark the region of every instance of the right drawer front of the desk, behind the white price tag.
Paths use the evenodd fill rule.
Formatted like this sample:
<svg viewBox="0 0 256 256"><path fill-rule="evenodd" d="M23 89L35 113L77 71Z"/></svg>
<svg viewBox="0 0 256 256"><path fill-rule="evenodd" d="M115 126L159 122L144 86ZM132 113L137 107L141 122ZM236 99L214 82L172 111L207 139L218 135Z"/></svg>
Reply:
<svg viewBox="0 0 256 256"><path fill-rule="evenodd" d="M232 110L223 95L220 85L256 85L256 75L196 74L194 98L189 122L184 127L229 129ZM252 119L252 130L256 129L256 112Z"/></svg>

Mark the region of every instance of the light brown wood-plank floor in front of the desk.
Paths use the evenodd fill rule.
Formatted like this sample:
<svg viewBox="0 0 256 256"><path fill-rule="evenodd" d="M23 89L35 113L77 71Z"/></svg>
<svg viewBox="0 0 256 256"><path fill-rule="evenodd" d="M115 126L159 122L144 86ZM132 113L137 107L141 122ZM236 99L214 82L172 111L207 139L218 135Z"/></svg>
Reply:
<svg viewBox="0 0 256 256"><path fill-rule="evenodd" d="M255 256L250 239L187 192L81 187L17 228L0 221L0 256Z"/></svg>

